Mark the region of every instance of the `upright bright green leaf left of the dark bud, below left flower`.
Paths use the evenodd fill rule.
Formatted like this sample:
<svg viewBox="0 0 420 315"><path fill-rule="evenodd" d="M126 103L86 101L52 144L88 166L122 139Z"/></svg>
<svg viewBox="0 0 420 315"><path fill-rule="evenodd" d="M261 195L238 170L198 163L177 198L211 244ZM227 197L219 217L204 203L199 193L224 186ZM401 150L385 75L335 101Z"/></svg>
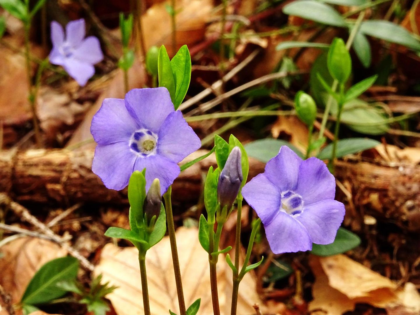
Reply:
<svg viewBox="0 0 420 315"><path fill-rule="evenodd" d="M139 227L144 225L143 205L146 198L146 178L144 178L143 172L134 171L131 174L128 197L130 203L130 229L136 234L139 231Z"/></svg>

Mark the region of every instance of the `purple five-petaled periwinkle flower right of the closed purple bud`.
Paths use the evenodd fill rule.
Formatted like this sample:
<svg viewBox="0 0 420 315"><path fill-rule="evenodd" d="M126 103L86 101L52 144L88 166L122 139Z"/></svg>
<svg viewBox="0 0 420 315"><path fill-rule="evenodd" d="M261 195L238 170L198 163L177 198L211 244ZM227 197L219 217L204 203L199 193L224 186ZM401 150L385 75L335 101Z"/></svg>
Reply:
<svg viewBox="0 0 420 315"><path fill-rule="evenodd" d="M344 205L334 200L335 192L334 176L323 161L302 160L286 146L268 161L264 173L242 189L275 254L334 241L345 212Z"/></svg>

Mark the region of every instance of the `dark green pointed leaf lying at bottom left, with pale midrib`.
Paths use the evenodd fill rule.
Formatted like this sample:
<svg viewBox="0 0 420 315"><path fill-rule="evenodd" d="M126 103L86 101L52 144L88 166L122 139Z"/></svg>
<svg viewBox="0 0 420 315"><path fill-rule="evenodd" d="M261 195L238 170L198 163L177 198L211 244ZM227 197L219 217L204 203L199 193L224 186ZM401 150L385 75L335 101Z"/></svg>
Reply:
<svg viewBox="0 0 420 315"><path fill-rule="evenodd" d="M22 304L43 304L66 294L57 287L60 281L74 280L79 270L79 261L74 257L61 257L47 262L33 276L25 293Z"/></svg>

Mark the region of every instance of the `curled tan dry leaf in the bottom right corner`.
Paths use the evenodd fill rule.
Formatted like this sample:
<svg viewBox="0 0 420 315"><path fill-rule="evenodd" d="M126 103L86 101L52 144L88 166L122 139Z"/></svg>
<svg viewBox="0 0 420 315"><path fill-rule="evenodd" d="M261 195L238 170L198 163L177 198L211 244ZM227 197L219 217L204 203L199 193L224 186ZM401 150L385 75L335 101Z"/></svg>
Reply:
<svg viewBox="0 0 420 315"><path fill-rule="evenodd" d="M345 255L312 256L310 266L316 277L314 299L309 304L314 314L341 315L354 310L357 303L385 308L389 315L420 312L420 294L412 283L398 288L393 281Z"/></svg>

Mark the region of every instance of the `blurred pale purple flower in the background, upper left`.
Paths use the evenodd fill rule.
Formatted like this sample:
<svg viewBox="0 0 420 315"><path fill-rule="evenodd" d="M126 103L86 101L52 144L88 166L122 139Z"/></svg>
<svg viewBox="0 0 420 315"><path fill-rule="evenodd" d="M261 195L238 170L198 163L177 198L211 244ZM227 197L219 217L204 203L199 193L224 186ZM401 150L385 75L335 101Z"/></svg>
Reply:
<svg viewBox="0 0 420 315"><path fill-rule="evenodd" d="M51 22L53 50L49 56L50 62L63 66L68 75L82 87L95 74L93 65L103 59L99 40L95 36L84 38L85 35L83 18L68 22L66 36L58 22Z"/></svg>

